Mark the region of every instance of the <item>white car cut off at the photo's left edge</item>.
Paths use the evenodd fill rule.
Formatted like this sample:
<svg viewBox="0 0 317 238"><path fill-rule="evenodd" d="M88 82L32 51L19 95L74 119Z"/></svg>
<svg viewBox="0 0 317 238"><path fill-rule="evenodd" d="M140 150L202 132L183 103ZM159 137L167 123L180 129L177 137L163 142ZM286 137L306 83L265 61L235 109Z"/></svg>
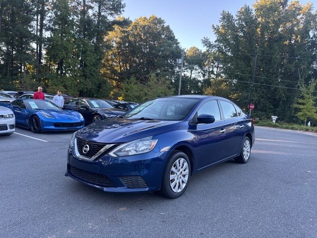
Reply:
<svg viewBox="0 0 317 238"><path fill-rule="evenodd" d="M0 135L11 135L15 130L15 117L13 112L0 106Z"/></svg>

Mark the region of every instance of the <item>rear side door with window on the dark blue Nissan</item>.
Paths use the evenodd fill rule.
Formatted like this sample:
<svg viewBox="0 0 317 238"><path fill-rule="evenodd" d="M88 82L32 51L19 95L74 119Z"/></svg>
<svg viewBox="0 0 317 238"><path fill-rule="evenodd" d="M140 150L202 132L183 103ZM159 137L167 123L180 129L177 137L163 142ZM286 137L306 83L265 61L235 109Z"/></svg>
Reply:
<svg viewBox="0 0 317 238"><path fill-rule="evenodd" d="M245 134L245 125L241 117L238 116L232 103L223 100L219 100L219 103L225 122L225 129L228 134L226 156L235 156L240 153L243 136Z"/></svg>

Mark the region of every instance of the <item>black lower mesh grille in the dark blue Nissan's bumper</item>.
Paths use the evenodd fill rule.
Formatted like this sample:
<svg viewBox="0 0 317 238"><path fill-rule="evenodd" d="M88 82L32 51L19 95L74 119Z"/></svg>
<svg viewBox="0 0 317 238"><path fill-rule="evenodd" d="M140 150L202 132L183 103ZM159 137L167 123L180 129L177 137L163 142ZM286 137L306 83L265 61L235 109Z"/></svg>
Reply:
<svg viewBox="0 0 317 238"><path fill-rule="evenodd" d="M78 179L82 179L86 182L100 185L103 187L114 187L113 182L105 175L91 173L91 172L84 171L70 165L69 165L69 170L72 173L72 175L74 177L77 177Z"/></svg>

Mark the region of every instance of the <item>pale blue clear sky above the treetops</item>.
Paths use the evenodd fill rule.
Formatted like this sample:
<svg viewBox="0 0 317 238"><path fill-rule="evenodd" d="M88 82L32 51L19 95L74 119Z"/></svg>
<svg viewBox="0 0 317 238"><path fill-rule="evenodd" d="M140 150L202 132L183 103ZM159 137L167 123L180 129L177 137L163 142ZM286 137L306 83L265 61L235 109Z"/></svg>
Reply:
<svg viewBox="0 0 317 238"><path fill-rule="evenodd" d="M306 3L309 0L300 0ZM182 48L196 46L203 50L201 40L208 37L213 41L212 24L218 24L222 10L233 15L244 5L255 0L123 0L123 16L134 20L140 16L156 15L165 20L172 29ZM317 8L317 0L310 0Z"/></svg>

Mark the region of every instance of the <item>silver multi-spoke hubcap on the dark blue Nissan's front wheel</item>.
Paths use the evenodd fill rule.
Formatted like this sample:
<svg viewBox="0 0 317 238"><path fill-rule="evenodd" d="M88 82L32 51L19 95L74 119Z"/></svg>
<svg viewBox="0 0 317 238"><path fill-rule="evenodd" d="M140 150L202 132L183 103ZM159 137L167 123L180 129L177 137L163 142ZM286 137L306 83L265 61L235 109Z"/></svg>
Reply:
<svg viewBox="0 0 317 238"><path fill-rule="evenodd" d="M180 192L186 186L189 175L187 161L184 158L177 159L169 173L169 185L173 192Z"/></svg>

